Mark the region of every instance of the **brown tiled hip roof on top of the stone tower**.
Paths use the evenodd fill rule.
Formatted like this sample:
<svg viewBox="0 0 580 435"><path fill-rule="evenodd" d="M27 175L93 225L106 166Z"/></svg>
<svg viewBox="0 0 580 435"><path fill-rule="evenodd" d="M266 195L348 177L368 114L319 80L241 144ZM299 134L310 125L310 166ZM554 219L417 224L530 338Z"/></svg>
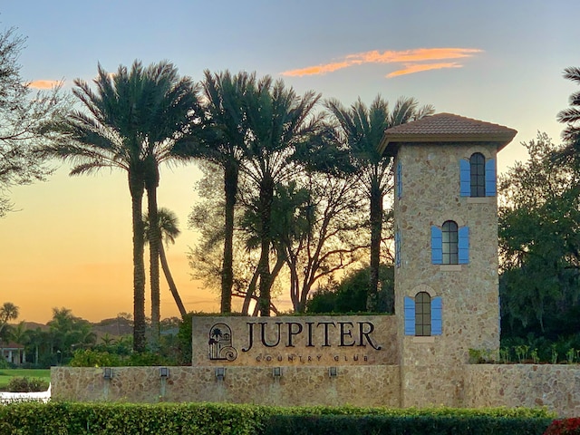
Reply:
<svg viewBox="0 0 580 435"><path fill-rule="evenodd" d="M384 132L379 150L389 155L401 142L498 142L505 147L517 131L491 122L473 120L453 113L438 113L419 121L398 125ZM386 150L385 150L386 149Z"/></svg>

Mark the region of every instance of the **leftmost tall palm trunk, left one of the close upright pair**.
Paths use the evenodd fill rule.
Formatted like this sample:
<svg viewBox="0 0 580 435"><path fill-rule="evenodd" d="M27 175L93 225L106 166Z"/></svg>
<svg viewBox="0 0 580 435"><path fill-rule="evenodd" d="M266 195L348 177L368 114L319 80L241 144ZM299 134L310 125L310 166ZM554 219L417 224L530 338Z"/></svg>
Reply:
<svg viewBox="0 0 580 435"><path fill-rule="evenodd" d="M129 174L129 189L131 191L131 215L133 224L133 350L145 351L145 263L143 247L143 179Z"/></svg>

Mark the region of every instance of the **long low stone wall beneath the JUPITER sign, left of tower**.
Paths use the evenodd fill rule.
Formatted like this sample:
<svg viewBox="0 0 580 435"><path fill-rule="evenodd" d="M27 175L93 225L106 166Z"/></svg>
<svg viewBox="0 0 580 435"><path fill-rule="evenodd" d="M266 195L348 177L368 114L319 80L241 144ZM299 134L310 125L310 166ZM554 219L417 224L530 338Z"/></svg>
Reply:
<svg viewBox="0 0 580 435"><path fill-rule="evenodd" d="M387 406L400 403L397 366L283 367L275 378L271 367L227 367L223 380L215 367L115 367L111 380L102 368L53 367L56 401L225 401L265 405Z"/></svg>

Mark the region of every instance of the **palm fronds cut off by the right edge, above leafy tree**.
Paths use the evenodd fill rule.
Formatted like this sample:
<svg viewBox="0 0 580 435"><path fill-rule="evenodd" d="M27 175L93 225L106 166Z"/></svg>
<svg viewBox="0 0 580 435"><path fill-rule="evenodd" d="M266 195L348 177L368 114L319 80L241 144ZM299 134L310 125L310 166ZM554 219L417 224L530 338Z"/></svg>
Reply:
<svg viewBox="0 0 580 435"><path fill-rule="evenodd" d="M580 68L568 67L564 70L565 79L571 80L580 84ZM562 139L565 140L566 145L562 150L556 152L556 158L564 160L572 160L576 166L580 166L580 92L574 92L570 95L569 108L559 111L557 120L566 123L567 126L562 131Z"/></svg>

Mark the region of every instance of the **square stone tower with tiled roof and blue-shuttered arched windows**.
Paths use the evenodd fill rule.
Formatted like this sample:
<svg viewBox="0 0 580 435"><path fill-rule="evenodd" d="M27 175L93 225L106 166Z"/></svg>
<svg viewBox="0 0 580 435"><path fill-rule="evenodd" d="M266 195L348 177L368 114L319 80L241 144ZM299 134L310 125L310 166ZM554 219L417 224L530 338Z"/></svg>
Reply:
<svg viewBox="0 0 580 435"><path fill-rule="evenodd" d="M499 348L496 159L516 132L449 113L385 131L402 406L460 405L469 349Z"/></svg>

